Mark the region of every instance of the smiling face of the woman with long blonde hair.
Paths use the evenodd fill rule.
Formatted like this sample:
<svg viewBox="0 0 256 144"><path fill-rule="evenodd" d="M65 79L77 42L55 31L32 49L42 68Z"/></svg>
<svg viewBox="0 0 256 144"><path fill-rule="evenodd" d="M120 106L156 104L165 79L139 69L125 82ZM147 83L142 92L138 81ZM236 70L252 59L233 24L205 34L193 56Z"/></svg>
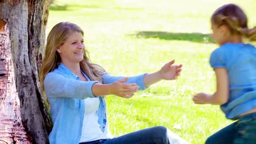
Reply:
<svg viewBox="0 0 256 144"><path fill-rule="evenodd" d="M59 53L62 63L75 64L83 60L84 50L82 33L73 32L69 34L62 45L59 45L56 51Z"/></svg>

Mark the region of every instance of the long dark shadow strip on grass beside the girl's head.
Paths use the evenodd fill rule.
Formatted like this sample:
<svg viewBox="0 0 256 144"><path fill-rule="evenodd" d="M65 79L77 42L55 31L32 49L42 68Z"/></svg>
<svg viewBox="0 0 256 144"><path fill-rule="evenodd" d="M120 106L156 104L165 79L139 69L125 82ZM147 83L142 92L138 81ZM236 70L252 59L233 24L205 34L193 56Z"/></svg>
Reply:
<svg viewBox="0 0 256 144"><path fill-rule="evenodd" d="M211 34L139 31L134 35L138 38L158 38L161 40L186 40L196 43L214 43Z"/></svg>

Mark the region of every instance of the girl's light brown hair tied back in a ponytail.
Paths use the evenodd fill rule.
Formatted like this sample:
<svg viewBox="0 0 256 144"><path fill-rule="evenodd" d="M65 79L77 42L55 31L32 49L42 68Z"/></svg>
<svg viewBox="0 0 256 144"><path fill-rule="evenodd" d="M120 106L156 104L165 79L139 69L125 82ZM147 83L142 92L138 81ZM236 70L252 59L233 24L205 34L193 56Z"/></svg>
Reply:
<svg viewBox="0 0 256 144"><path fill-rule="evenodd" d="M227 4L218 8L211 16L217 26L226 25L232 34L241 34L249 40L256 40L256 27L248 28L248 19L243 10L235 4Z"/></svg>

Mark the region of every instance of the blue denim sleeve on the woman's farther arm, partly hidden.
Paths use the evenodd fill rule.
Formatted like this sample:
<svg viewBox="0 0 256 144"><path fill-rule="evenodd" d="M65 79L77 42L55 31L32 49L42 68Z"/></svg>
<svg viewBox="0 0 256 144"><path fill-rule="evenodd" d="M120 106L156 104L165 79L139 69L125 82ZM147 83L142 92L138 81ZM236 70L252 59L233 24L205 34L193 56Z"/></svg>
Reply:
<svg viewBox="0 0 256 144"><path fill-rule="evenodd" d="M139 86L139 91L145 90L146 88L148 88L148 87L145 86L145 84L143 82L143 77L145 75L147 75L147 73L142 74L142 75L137 75L137 76L134 76L134 77L128 77L128 81L125 82L125 83L136 83ZM111 84L111 83L114 83L115 81L121 80L125 77L123 77L123 76L117 77L117 76L111 76L111 75L108 75L108 74L104 74L102 76L102 78L103 78L103 83L104 84Z"/></svg>

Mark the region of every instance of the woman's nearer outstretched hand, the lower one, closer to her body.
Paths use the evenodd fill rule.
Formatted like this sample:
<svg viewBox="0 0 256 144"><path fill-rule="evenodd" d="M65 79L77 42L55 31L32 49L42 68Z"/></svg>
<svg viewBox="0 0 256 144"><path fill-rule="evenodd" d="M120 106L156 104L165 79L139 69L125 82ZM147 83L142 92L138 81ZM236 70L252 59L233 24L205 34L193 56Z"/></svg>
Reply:
<svg viewBox="0 0 256 144"><path fill-rule="evenodd" d="M125 83L128 80L128 77L118 80L109 86L111 94L120 96L122 98L132 97L136 91L138 91L139 86L136 83Z"/></svg>

